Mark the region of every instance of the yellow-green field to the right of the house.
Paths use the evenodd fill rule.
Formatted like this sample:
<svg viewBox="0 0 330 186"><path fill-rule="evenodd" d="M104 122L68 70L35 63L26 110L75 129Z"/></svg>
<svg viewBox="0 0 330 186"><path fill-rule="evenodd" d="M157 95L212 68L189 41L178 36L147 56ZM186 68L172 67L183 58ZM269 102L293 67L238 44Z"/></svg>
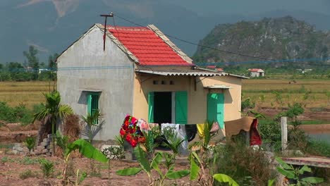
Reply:
<svg viewBox="0 0 330 186"><path fill-rule="evenodd" d="M294 102L306 104L309 109L330 108L330 80L243 80L243 100L250 98L259 107L287 106ZM279 92L276 100L276 94Z"/></svg>

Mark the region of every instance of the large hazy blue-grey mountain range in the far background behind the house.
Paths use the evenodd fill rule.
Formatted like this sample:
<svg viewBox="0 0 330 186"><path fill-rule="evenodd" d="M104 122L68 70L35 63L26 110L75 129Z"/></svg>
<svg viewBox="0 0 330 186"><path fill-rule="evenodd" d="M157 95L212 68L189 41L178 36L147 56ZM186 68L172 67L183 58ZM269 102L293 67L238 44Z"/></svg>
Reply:
<svg viewBox="0 0 330 186"><path fill-rule="evenodd" d="M257 15L238 11L207 13L207 10L203 10L203 13L200 13L188 9L185 4L183 1L165 0L1 0L0 63L23 62L23 51L26 51L29 45L37 47L39 57L46 61L49 55L65 50L94 23L104 23L99 14L111 11L141 25L154 24L167 35L193 43L198 43L216 24L257 20L271 13L274 16L291 15L290 13L298 15L293 11ZM322 14L310 12L299 15L317 28L330 27L329 17ZM114 24L112 19L109 19L108 23ZM115 23L133 25L117 17ZM193 44L170 39L188 55L193 55L197 49Z"/></svg>

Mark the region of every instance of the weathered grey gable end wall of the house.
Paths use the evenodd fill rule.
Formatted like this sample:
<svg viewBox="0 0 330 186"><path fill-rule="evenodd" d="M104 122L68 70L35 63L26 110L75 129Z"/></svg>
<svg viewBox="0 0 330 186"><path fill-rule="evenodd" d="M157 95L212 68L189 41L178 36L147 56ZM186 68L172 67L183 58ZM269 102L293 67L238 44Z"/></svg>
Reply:
<svg viewBox="0 0 330 186"><path fill-rule="evenodd" d="M104 128L94 140L113 140L126 113L133 108L133 62L109 38L103 51L103 34L92 27L58 58L57 89L62 104L80 116L87 114L87 90L100 90L99 109ZM102 67L99 69L73 68ZM68 68L68 69L66 69Z"/></svg>

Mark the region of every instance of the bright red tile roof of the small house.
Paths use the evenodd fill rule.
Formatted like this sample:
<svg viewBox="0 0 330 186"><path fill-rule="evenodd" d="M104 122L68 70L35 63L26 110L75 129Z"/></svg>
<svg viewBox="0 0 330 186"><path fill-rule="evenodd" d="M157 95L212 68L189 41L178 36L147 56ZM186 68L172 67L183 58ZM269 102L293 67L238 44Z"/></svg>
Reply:
<svg viewBox="0 0 330 186"><path fill-rule="evenodd" d="M107 26L109 32L144 66L192 66L149 27Z"/></svg>

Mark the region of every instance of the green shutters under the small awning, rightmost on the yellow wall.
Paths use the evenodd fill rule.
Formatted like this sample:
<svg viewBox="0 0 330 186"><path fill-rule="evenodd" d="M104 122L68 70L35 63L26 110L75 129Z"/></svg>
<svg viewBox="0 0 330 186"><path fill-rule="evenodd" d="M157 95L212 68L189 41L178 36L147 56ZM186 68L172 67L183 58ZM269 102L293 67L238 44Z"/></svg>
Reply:
<svg viewBox="0 0 330 186"><path fill-rule="evenodd" d="M224 128L224 94L207 94L207 120L217 121Z"/></svg>

